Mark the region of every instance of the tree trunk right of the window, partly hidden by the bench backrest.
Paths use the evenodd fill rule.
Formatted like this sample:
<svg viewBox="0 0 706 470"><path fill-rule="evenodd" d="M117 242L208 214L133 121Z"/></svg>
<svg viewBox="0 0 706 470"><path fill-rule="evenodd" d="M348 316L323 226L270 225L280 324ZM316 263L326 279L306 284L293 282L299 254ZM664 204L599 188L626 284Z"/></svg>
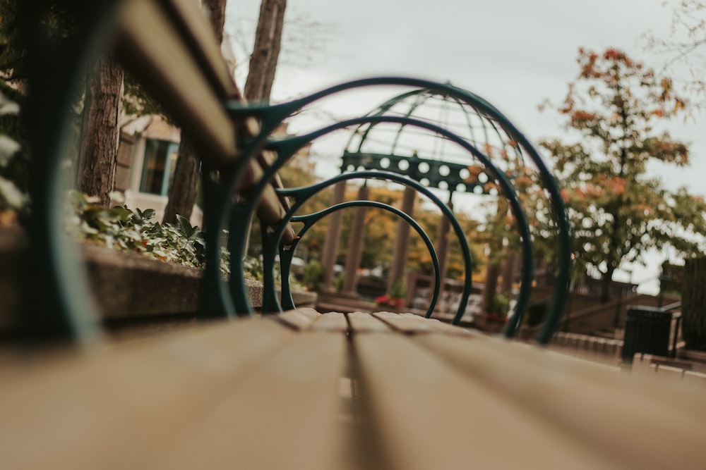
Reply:
<svg viewBox="0 0 706 470"><path fill-rule="evenodd" d="M223 23L225 22L226 0L203 0L208 10L211 26L218 44L223 41ZM177 165L174 167L174 180L169 187L169 199L164 208L164 223L176 223L177 214L191 218L193 203L196 201L198 188L198 158L188 135L181 134Z"/></svg>

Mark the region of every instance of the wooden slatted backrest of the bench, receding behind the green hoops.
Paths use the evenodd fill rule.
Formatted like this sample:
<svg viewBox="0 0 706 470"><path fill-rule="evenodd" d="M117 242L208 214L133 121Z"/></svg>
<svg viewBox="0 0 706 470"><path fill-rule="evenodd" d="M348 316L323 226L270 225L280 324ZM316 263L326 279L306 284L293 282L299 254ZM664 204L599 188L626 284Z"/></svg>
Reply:
<svg viewBox="0 0 706 470"><path fill-rule="evenodd" d="M195 2L165 1L181 31L169 23L174 18L169 18L155 0L126 1L119 16L121 56L196 141L204 161L216 167L233 163L238 154L236 132L223 106L226 96L219 94L232 97L237 90L219 71L222 58L213 33L208 32L210 25ZM250 161L241 190L262 176L261 163L257 159ZM263 190L257 211L273 227L285 216L285 207L272 185ZM294 229L287 224L282 242L289 245L293 241Z"/></svg>

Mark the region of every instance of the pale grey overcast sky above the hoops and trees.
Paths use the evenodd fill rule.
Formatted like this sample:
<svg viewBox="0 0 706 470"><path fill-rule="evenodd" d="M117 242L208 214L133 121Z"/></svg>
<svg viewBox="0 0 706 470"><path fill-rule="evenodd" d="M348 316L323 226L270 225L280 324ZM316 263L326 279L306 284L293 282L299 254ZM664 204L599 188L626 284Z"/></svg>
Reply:
<svg viewBox="0 0 706 470"><path fill-rule="evenodd" d="M645 51L642 36L651 31L669 37L671 5L678 2L671 0L667 6L662 0L287 3L287 18L292 23L304 18L322 25L313 31L323 52L301 54L313 55L309 62L298 54L285 56L277 71L273 100L375 75L450 80L490 101L532 142L538 142L542 137L563 136L558 116L540 113L537 106L545 99L558 102L565 97L568 82L578 74L578 48L603 51L617 47L647 66L659 67L662 58ZM251 43L259 5L259 0L229 0L227 32L237 42ZM301 37L302 30L294 35ZM311 50L311 44L289 47ZM375 106L379 99L371 103ZM693 193L706 195L700 184L706 170L706 142L698 132L700 125L679 120L670 126L674 137L692 144L691 168L653 171L663 175L669 187L687 185ZM652 254L647 268L634 269L633 280L655 278L664 256ZM627 276L623 273L623 280ZM654 292L656 286L645 283L641 290Z"/></svg>

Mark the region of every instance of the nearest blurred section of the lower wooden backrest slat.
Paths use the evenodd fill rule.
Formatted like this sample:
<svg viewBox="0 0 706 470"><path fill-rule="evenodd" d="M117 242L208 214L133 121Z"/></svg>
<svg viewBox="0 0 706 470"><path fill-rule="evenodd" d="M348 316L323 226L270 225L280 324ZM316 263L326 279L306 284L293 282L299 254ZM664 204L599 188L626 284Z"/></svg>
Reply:
<svg viewBox="0 0 706 470"><path fill-rule="evenodd" d="M128 0L119 14L119 52L164 109L214 166L237 156L236 138L222 100L155 0Z"/></svg>

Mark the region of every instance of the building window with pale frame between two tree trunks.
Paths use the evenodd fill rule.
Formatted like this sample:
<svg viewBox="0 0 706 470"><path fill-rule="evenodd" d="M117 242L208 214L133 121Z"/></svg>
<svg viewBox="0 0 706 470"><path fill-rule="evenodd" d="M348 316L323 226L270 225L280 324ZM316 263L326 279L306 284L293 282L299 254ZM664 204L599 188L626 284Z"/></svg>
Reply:
<svg viewBox="0 0 706 470"><path fill-rule="evenodd" d="M167 140L148 139L140 179L140 192L167 196L174 178L179 144Z"/></svg>

